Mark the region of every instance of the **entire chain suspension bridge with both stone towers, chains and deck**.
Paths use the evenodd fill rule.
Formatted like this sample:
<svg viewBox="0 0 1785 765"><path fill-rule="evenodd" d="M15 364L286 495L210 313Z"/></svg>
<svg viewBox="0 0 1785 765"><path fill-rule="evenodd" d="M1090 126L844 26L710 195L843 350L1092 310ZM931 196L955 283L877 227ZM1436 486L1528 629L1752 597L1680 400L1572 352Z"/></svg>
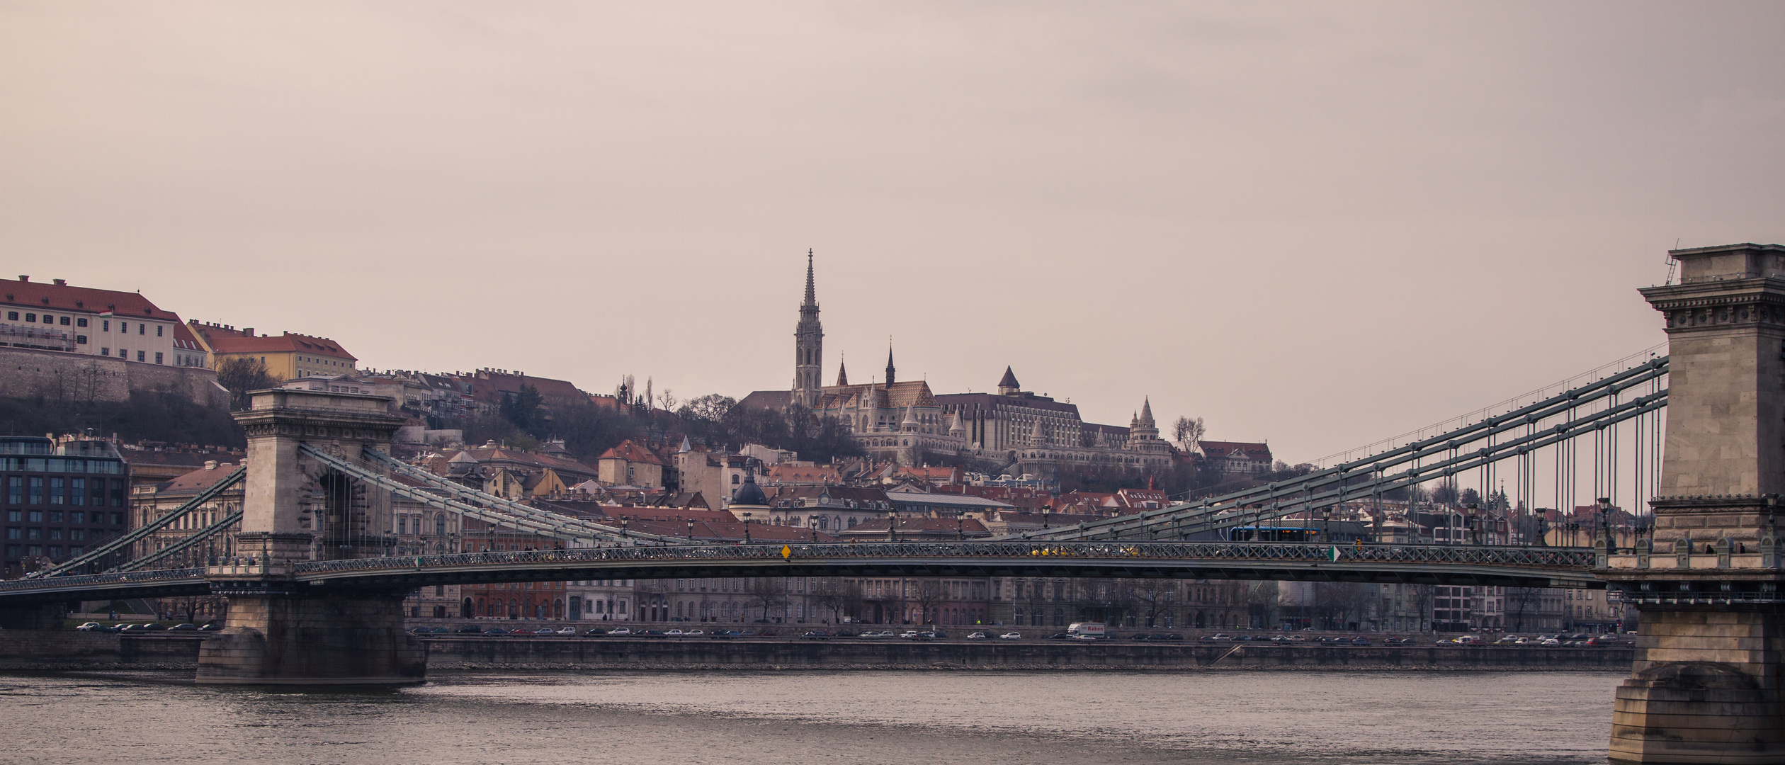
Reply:
<svg viewBox="0 0 1785 765"><path fill-rule="evenodd" d="M202 647L200 683L416 683L425 651L403 633L400 605L418 587L446 583L900 574L1598 587L1642 615L1633 674L1614 706L1612 760L1785 763L1785 567L1774 526L1785 492L1785 246L1673 257L1680 284L1642 291L1664 317L1665 355L1287 481L976 542L641 535L389 457L403 419L380 398L259 391L236 415L248 433L245 467L80 558L0 581L0 621L46 628L70 601L220 594L230 601L227 626ZM1248 539L1273 519L1319 519L1341 503L1458 476L1478 480L1483 496L1512 478L1507 510L1540 524L1528 517L1544 494L1539 483L1565 508L1583 489L1582 462L1601 508L1639 506L1628 533L1587 530L1589 544L1573 547L1480 544L1474 530L1453 544ZM237 481L241 512L123 560L134 542L175 528ZM346 501L359 489L560 547L389 556L343 535L378 521L377 508ZM227 530L239 556L193 565L198 546Z"/></svg>

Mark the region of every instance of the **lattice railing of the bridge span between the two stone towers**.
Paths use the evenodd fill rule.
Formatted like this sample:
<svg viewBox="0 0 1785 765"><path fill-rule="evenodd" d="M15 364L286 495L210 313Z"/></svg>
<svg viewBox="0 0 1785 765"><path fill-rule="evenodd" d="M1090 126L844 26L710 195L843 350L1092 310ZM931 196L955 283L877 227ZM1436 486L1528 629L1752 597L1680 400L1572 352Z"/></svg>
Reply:
<svg viewBox="0 0 1785 765"><path fill-rule="evenodd" d="M1337 551L1337 558L1333 556ZM357 571L412 571L464 565L553 565L614 562L716 562L716 560L848 560L848 558L1105 558L1105 560L1269 560L1348 563L1465 563L1589 569L1587 547L1490 547L1371 544L1333 547L1292 542L875 542L875 544L716 544L673 547L571 547L505 553L448 553L396 558L348 558L298 563L296 574Z"/></svg>

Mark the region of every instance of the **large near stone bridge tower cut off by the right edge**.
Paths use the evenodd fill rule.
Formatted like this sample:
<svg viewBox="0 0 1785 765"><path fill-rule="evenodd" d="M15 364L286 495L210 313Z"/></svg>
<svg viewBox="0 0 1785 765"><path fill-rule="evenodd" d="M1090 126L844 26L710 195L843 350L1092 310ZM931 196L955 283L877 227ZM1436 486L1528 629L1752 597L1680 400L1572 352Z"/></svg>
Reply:
<svg viewBox="0 0 1785 765"><path fill-rule="evenodd" d="M1640 613L1612 761L1785 763L1785 248L1678 250L1653 542L1599 576ZM1603 544L1603 542L1601 542Z"/></svg>

